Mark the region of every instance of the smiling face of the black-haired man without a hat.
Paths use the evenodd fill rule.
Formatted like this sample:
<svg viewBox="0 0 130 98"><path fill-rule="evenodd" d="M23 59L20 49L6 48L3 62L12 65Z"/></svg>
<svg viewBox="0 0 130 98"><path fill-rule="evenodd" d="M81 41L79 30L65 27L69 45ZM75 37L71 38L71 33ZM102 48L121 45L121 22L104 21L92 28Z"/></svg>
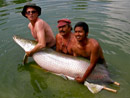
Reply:
<svg viewBox="0 0 130 98"><path fill-rule="evenodd" d="M77 39L77 41L82 41L86 37L83 27L76 27L74 35L75 35L75 38Z"/></svg>

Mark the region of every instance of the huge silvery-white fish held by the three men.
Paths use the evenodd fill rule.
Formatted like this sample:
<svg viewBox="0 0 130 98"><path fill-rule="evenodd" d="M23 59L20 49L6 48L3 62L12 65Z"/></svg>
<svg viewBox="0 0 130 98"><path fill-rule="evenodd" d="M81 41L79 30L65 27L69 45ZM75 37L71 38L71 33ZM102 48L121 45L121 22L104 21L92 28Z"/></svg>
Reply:
<svg viewBox="0 0 130 98"><path fill-rule="evenodd" d="M18 36L14 36L13 39L25 51L30 51L37 44L36 41ZM43 69L55 74L64 75L69 79L74 79L77 76L82 77L90 64L87 59L59 53L50 48L44 48L42 51L34 53L32 57ZM96 65L86 81L96 84L115 83L109 77L106 66L102 64Z"/></svg>

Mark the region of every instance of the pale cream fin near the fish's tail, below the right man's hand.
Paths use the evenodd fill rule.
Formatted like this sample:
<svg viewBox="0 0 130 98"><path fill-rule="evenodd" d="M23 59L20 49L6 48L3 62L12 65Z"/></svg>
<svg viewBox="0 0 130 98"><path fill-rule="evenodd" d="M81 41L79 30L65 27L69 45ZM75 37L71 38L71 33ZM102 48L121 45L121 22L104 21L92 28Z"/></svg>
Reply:
<svg viewBox="0 0 130 98"><path fill-rule="evenodd" d="M89 83L87 81L84 82L84 85L88 87L88 89L92 92L92 93L98 93L99 91L101 91L104 86L102 85L98 85L98 84L93 84L93 83Z"/></svg>

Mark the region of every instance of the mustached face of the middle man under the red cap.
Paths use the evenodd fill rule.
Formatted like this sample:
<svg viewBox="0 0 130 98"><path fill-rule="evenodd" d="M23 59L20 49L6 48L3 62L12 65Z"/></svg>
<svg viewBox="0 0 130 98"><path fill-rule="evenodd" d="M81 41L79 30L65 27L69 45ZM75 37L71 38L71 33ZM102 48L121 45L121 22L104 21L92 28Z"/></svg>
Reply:
<svg viewBox="0 0 130 98"><path fill-rule="evenodd" d="M71 28L68 25L60 26L58 27L58 30L62 36L65 36L71 32Z"/></svg>

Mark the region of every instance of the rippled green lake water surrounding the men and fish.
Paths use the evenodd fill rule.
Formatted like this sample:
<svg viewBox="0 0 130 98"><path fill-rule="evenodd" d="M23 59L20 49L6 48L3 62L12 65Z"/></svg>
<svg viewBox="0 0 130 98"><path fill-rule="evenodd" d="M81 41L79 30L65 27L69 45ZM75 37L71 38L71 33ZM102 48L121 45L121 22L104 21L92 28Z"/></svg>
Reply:
<svg viewBox="0 0 130 98"><path fill-rule="evenodd" d="M26 2L42 8L44 19L57 34L57 20L69 18L72 26L85 21L89 37L100 43L109 65L111 78L120 87L117 94L101 91L92 94L75 81L37 67L30 58L22 64L24 51L14 43L13 35L32 38L28 20L21 15ZM130 13L129 0L0 0L0 98L129 98L130 97Z"/></svg>

